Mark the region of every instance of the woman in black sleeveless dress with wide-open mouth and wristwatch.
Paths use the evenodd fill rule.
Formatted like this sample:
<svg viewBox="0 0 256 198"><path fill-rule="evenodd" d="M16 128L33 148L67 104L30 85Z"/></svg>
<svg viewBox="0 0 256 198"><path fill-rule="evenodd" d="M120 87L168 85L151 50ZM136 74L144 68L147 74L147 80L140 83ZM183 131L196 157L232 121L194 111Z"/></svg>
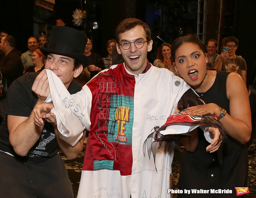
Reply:
<svg viewBox="0 0 256 198"><path fill-rule="evenodd" d="M179 189L209 190L206 194L178 194L178 198L235 198L235 187L247 187L248 153L246 143L251 134L250 104L246 85L239 74L208 70L206 47L194 35L177 38L172 43L172 60L179 75L207 103L188 107L183 114L215 114L227 130L222 143L222 163L218 153L207 152L208 142L198 132L194 152L184 151ZM215 194L214 190L221 191ZM228 190L228 191L227 191ZM232 193L230 193L232 190ZM212 192L212 193L211 193ZM228 193L227 193L228 192Z"/></svg>

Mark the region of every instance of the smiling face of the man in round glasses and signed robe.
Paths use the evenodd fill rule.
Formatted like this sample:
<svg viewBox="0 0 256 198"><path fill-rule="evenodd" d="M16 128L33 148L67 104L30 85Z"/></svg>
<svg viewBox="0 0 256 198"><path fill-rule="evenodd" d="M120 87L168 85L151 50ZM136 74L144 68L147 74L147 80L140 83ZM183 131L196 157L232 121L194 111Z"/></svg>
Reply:
<svg viewBox="0 0 256 198"><path fill-rule="evenodd" d="M144 43L144 46L140 49L136 48L134 42L137 40L146 41L146 34L144 28L141 25L137 25L134 28L119 34L119 42L129 41L131 47L128 50L122 48L121 45L116 45L117 52L122 54L125 60L125 67L132 74L141 74L147 66L147 53L151 51L153 41L150 40Z"/></svg>

